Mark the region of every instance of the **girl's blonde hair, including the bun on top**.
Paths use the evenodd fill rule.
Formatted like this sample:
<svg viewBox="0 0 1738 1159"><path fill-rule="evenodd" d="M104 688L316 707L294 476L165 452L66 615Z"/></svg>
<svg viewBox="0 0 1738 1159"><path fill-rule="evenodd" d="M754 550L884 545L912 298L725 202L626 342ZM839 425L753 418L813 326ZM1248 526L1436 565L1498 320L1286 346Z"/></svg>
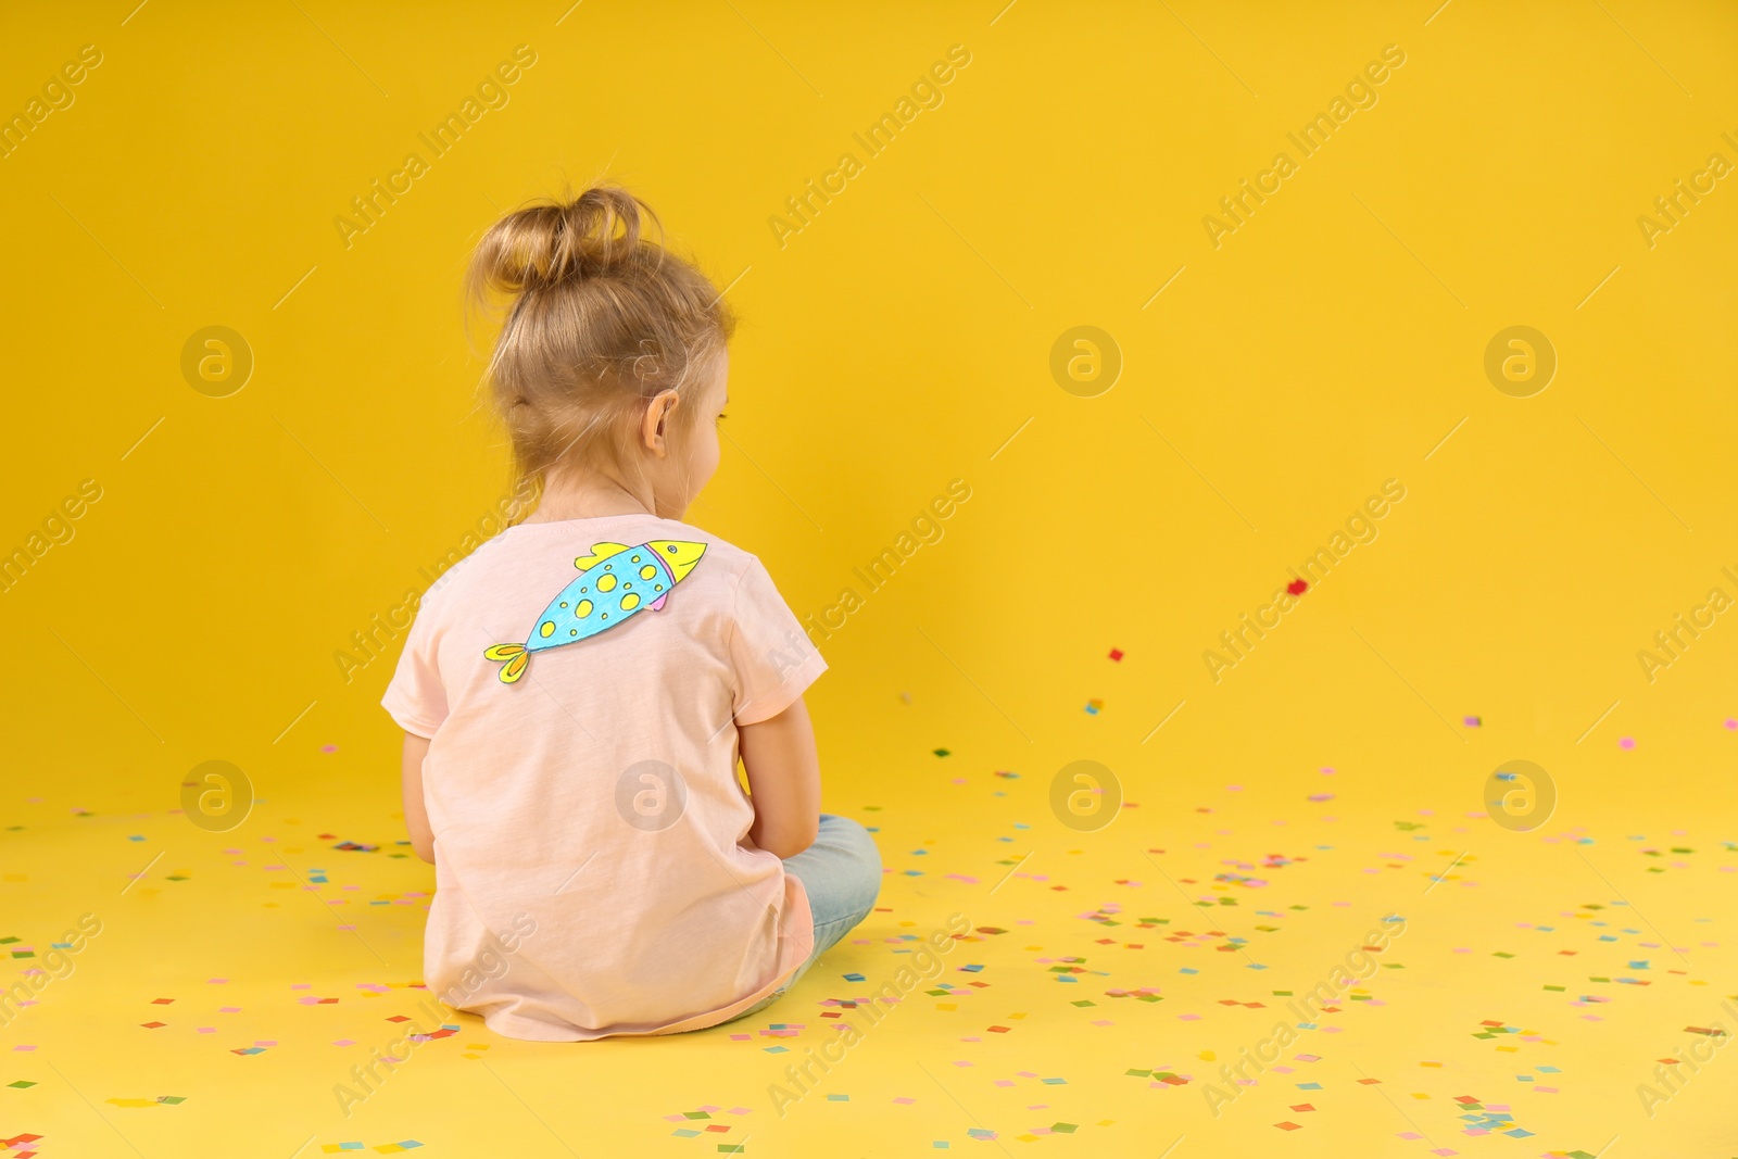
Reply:
<svg viewBox="0 0 1738 1159"><path fill-rule="evenodd" d="M506 297L487 384L513 443L514 493L558 464L626 469L647 401L676 391L681 438L695 394L735 332L711 280L662 242L640 198L614 186L514 210L471 255L466 299ZM660 229L662 236L662 229Z"/></svg>

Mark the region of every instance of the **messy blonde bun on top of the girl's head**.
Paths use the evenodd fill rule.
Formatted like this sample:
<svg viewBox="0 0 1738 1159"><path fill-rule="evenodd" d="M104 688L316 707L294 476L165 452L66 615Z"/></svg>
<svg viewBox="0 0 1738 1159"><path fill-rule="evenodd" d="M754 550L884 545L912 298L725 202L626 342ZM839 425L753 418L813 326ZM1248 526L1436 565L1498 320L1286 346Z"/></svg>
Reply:
<svg viewBox="0 0 1738 1159"><path fill-rule="evenodd" d="M473 275L506 294L534 294L580 278L603 278L655 257L641 242L652 209L615 186L594 186L572 202L542 202L490 226L476 247Z"/></svg>

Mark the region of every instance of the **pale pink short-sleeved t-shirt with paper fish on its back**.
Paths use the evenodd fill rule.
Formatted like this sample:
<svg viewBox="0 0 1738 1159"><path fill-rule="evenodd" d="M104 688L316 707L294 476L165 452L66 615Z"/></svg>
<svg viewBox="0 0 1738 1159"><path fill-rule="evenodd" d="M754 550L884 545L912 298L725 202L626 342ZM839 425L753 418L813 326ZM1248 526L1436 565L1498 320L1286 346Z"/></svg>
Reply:
<svg viewBox="0 0 1738 1159"><path fill-rule="evenodd" d="M429 738L424 977L507 1037L714 1025L808 957L737 726L826 671L754 556L652 516L521 523L422 598L382 704Z"/></svg>

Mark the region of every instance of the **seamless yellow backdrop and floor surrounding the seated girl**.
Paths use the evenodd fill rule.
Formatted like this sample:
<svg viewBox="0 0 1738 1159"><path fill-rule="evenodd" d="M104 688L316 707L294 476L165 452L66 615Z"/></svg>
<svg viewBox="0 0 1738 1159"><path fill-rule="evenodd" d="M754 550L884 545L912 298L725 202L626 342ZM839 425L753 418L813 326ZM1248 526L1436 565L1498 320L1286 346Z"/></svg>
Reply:
<svg viewBox="0 0 1738 1159"><path fill-rule="evenodd" d="M1158 1156L1177 1136L1180 1159L1595 1154L1613 1136L1620 1159L1738 1152L1738 1062L1717 1056L1651 1121L1635 1095L1733 990L1735 615L1651 683L1637 652L1710 587L1738 594L1721 575L1738 572L1738 191L1717 182L1651 248L1637 217L1712 153L1738 162L1721 136L1738 136L1738 19L1627 0L998 7L122 0L9 17L0 111L80 45L103 63L0 160L0 547L82 480L103 499L0 594L0 937L40 961L82 912L104 931L0 1029L0 1138L40 1133L43 1156L412 1138L429 1156L676 1156L744 1135L768 1156L859 1154L841 1140ZM1286 132L1390 43L1406 63L1375 108L1300 158ZM516 45L537 63L509 103L431 158L417 134ZM951 45L972 61L940 108L866 158L852 134ZM1281 149L1298 172L1215 248L1203 217ZM410 151L428 174L346 248L334 219ZM768 219L845 151L864 170L780 247ZM386 1006L414 1013L412 990L370 1006L355 987L419 978L422 911L370 907L339 931L349 911L315 900L362 884L360 911L433 872L316 838L401 836L377 707L396 646L349 683L334 653L506 492L459 320L469 247L499 212L598 177L732 285L725 462L692 520L760 554L798 613L862 593L853 566L951 480L972 488L826 641L810 695L826 805L881 827L888 912L733 1027L753 1044L530 1046L466 1017L346 1121L332 1084L386 1041ZM255 360L229 398L181 374L209 325ZM1097 398L1048 370L1076 325L1124 360ZM1483 370L1512 325L1557 353L1533 398ZM1406 499L1380 537L1215 683L1203 650L1389 478ZM1484 778L1516 758L1559 792L1531 834L1483 815ZM172 813L205 759L262 798L229 834ZM1046 805L1074 759L1114 770L1133 805L1095 834ZM273 891L290 871L262 869L268 850L330 884ZM998 884L1027 853L1020 872L1048 879ZM1269 853L1309 862L1260 869ZM1215 886L1237 858L1270 884ZM1203 928L1251 938L1265 971L1164 928L1102 947L1079 921L1123 904L1192 930L1218 917L1192 912L1199 897L1241 900ZM1611 912L1582 907L1620 898L1629 916L1599 931L1620 940L1597 942ZM1258 905L1284 914L1276 931L1253 931ZM992 985L907 999L824 1084L850 1102L817 1093L779 1119L766 1084L831 1034L815 1003L860 992L846 971L885 980L905 959L883 938L956 911L1010 930L949 957L956 985ZM1213 1119L1203 1084L1272 1015L1220 1001L1277 1006L1274 989L1323 980L1389 912L1410 924L1390 952L1406 968L1370 983L1385 1004L1350 1004L1343 1034L1305 1039L1319 1062ZM1105 977L1058 987L1038 964L1058 956ZM240 1015L216 1013L212 977ZM1140 985L1166 1001L1104 997ZM1609 1001L1569 1006L1582 994ZM141 1029L153 1017L169 1025ZM808 1027L793 1055L763 1053L770 1018ZM1470 1037L1483 1020L1540 1041L1498 1053L1516 1048ZM330 1046L344 1037L363 1046ZM255 1041L280 1046L229 1053ZM1562 1070L1559 1095L1516 1081L1536 1065ZM1194 1081L1124 1074L1154 1067ZM186 1102L108 1102L158 1095ZM1460 1135L1460 1095L1512 1105L1535 1135ZM1316 1110L1288 1110L1298 1098ZM707 1103L753 1114L669 1135L664 1116ZM1410 1121L1429 1142L1397 1138ZM1029 1135L1051 1123L1079 1129ZM973 1143L973 1126L999 1138Z"/></svg>

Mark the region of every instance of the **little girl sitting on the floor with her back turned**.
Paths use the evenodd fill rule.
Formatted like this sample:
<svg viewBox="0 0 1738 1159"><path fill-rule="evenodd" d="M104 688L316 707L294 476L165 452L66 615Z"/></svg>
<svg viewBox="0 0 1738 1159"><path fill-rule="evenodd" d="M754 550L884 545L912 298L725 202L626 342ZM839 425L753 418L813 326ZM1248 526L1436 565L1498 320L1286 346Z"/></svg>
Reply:
<svg viewBox="0 0 1738 1159"><path fill-rule="evenodd" d="M826 664L760 560L680 521L735 320L643 221L594 188L483 236L469 299L507 299L488 387L539 504L422 598L384 699L434 864L428 985L518 1039L760 1010L881 883L862 825L820 815Z"/></svg>

